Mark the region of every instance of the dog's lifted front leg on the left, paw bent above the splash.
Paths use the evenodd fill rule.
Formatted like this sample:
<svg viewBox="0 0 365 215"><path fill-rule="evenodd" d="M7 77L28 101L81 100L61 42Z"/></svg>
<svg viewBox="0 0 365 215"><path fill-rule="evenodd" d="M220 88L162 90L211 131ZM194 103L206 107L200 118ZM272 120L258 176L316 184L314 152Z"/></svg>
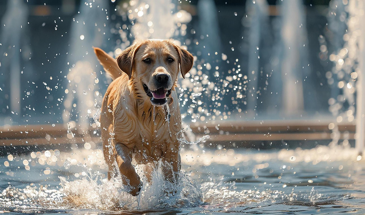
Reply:
<svg viewBox="0 0 365 215"><path fill-rule="evenodd" d="M117 161L123 184L130 187L129 193L136 196L142 187L142 182L132 165L132 152L122 143L115 144L115 159Z"/></svg>

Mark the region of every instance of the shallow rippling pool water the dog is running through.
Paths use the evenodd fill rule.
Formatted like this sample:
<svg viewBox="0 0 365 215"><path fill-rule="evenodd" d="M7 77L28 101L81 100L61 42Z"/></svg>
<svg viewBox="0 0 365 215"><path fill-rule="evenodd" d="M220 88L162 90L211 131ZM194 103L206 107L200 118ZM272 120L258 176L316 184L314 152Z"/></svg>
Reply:
<svg viewBox="0 0 365 215"><path fill-rule="evenodd" d="M365 161L353 148L193 147L181 150L178 183L165 182L159 168L151 183L143 179L138 197L129 195L118 178L105 179L100 149L0 157L0 212L365 213Z"/></svg>

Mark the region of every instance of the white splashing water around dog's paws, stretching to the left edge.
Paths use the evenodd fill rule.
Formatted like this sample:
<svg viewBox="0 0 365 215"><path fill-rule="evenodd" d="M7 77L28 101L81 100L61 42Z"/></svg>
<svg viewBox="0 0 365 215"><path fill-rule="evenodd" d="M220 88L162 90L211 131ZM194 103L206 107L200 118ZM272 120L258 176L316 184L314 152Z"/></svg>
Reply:
<svg viewBox="0 0 365 215"><path fill-rule="evenodd" d="M191 180L189 173L180 172L179 180L171 183L164 179L162 172L164 165L166 164L158 163L158 168L153 171L150 182L147 182L145 177L141 177L144 185L138 196L128 193L120 177L108 180L102 178L99 171L91 173L91 169L86 169L82 179L70 181L66 177L59 176L61 185L59 189L51 189L47 186L38 188L35 185L28 185L23 189L9 186L0 193L0 202L8 205L7 209L14 211L19 209L22 212L34 211L35 208L44 210L51 205L51 209L130 210L201 204L202 193L197 184ZM86 168L85 165L78 166ZM136 167L136 169L142 168ZM172 192L176 194L166 194Z"/></svg>

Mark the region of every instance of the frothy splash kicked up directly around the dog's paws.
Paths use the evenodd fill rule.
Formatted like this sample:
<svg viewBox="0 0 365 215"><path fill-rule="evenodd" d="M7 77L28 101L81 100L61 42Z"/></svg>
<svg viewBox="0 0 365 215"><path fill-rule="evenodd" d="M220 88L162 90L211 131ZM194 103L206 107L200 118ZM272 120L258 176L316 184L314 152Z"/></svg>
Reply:
<svg viewBox="0 0 365 215"><path fill-rule="evenodd" d="M179 180L171 183L164 179L162 169L165 163L159 162L152 173L152 180L141 177L143 186L138 196L128 193L120 177L111 180L102 179L98 173L83 179L68 181L60 177L64 202L79 208L97 208L103 210L148 209L153 207L178 207L201 204L202 193L189 173L180 172ZM136 169L143 169L137 165ZM138 172L138 171L137 171ZM138 173L143 173L139 171ZM171 195L168 193L176 192Z"/></svg>

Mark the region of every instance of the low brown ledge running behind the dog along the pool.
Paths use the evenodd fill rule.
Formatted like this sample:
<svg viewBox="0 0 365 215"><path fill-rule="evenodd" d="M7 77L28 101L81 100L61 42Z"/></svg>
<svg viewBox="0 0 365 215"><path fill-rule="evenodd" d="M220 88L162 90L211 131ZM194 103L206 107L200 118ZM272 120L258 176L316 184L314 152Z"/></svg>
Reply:
<svg viewBox="0 0 365 215"><path fill-rule="evenodd" d="M215 121L191 124L190 128L198 138L209 134L207 143L330 140L334 133L339 135L339 139L355 137L354 122L336 124L329 120ZM73 137L70 132L73 133ZM77 126L68 129L64 124L2 126L0 146L71 144L85 141L100 143L99 133L100 130L97 128L90 127L86 132L80 132Z"/></svg>

